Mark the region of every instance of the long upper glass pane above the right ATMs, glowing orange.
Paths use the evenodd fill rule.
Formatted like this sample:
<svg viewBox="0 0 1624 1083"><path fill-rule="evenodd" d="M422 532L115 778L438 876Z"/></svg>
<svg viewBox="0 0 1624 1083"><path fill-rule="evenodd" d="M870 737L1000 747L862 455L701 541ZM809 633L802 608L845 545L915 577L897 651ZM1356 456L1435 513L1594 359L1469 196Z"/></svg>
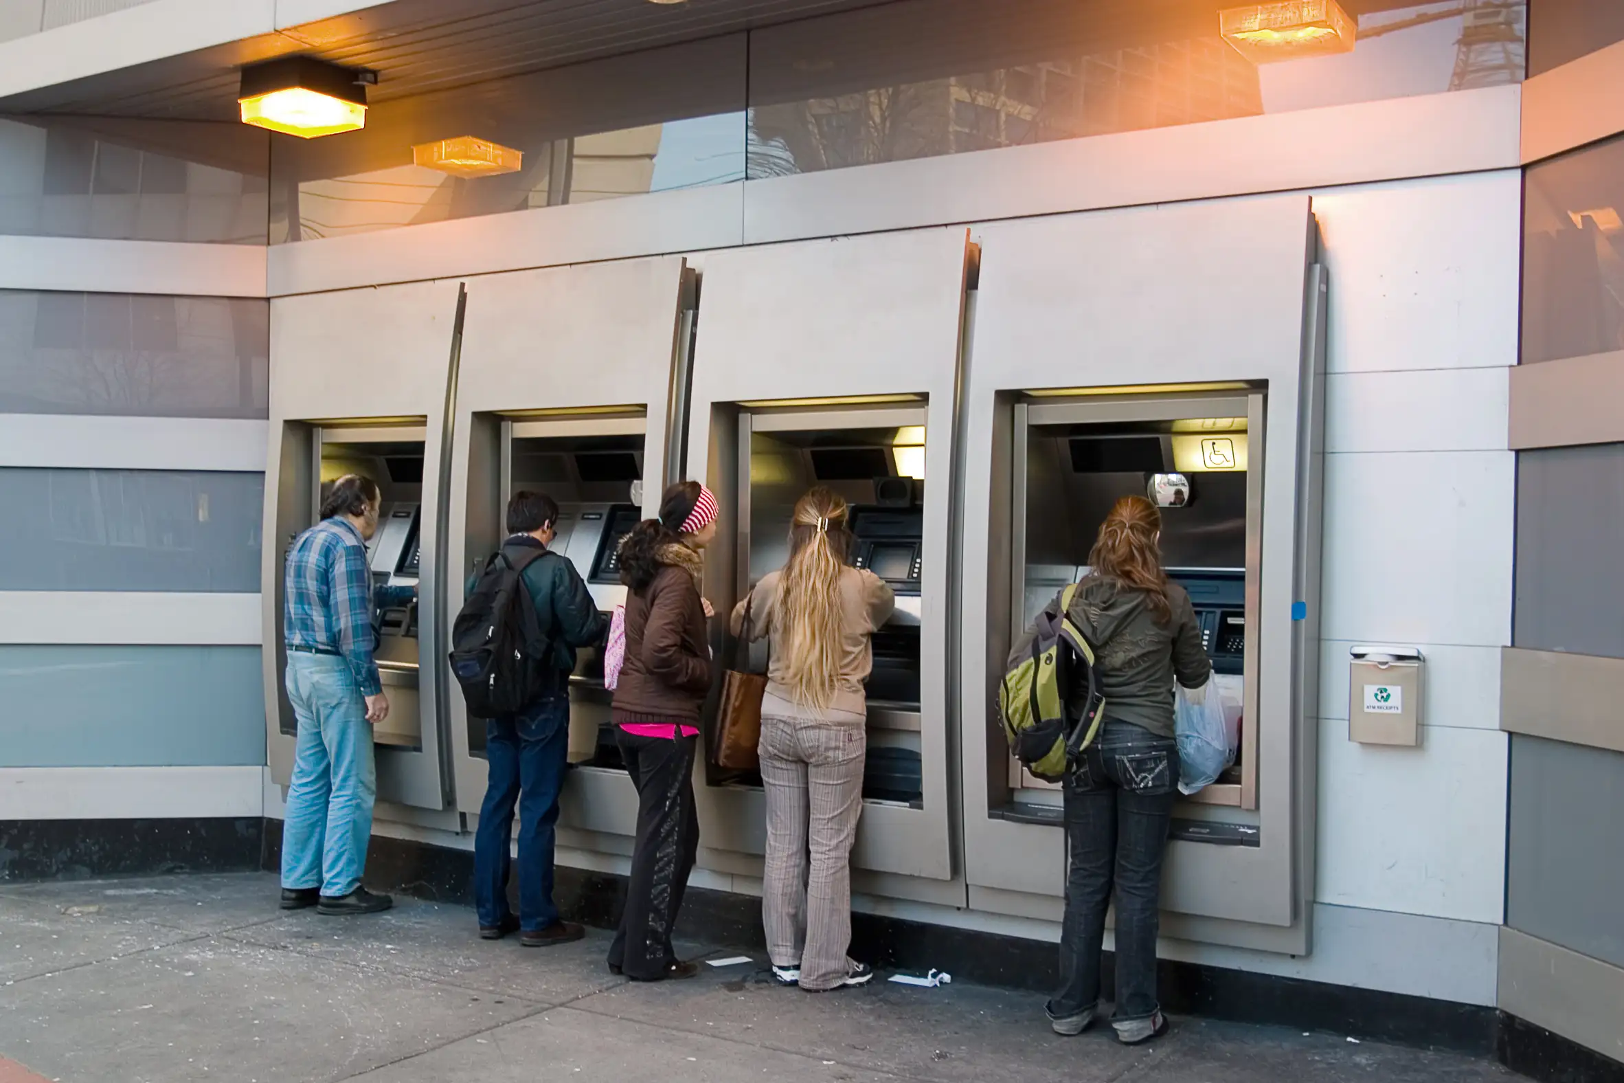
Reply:
<svg viewBox="0 0 1624 1083"><path fill-rule="evenodd" d="M1523 0L1343 0L1351 52L1254 63L1190 0L903 0L750 36L749 175L1517 83Z"/></svg>

